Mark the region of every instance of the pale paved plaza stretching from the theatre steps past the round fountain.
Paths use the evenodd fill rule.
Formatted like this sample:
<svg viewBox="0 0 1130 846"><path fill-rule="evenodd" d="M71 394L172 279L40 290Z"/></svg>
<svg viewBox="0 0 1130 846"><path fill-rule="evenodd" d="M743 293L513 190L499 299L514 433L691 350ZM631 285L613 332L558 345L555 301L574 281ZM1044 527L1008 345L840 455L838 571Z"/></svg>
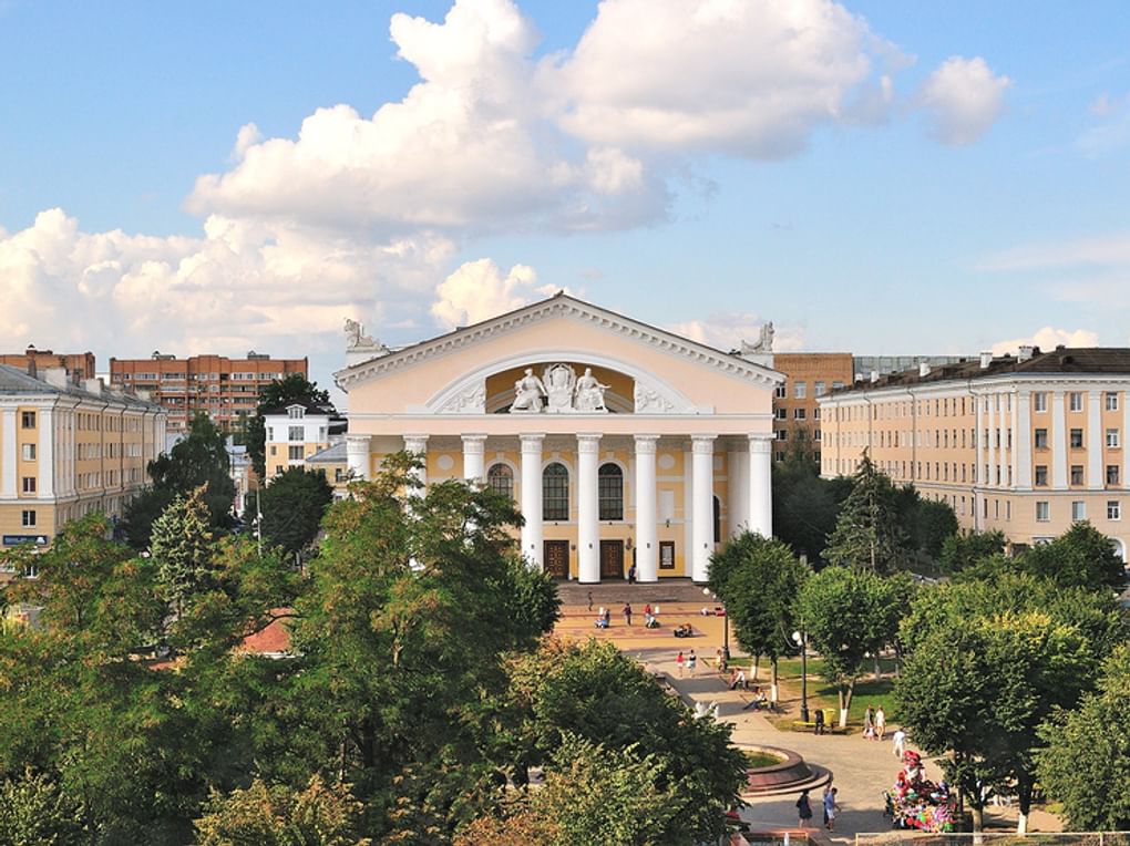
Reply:
<svg viewBox="0 0 1130 846"><path fill-rule="evenodd" d="M704 602L660 603L661 628L645 629L643 627L643 605L647 600L636 601L635 590L637 586L625 585L615 592L610 590L610 586L603 587L601 595L606 601L602 604L611 611L611 627L608 630L599 630L593 626L596 611L589 612L585 601L585 604L571 604L562 609L562 619L555 633L562 637L596 637L601 640L611 640L650 670L664 673L688 705L693 706L696 703L716 704L719 718L734 726L733 740L737 744L764 744L791 749L800 753L806 761L831 770L833 784L838 790L837 796L841 805L833 839L849 841L853 840L857 834L890 830L889 820L883 816L883 792L894 784L899 761L893 752L889 726L888 740L881 742L866 740L859 733L817 736L807 731L779 730L763 714L742 710L742 706L749 700L749 694L729 690L714 670L714 656L716 649L722 645L722 625L725 618L702 616L701 610L707 604ZM568 594L570 598L576 595L575 590L574 587L573 592ZM610 601L614 599L614 594L615 602ZM683 593L681 595L686 596L687 594ZM632 601L635 612L631 627L625 625L620 616L620 610L627 600ZM672 630L680 623L690 623L694 627L695 636L686 639L673 637ZM698 657L696 673L692 675L689 672L685 672L683 678L679 678L675 657L680 649L687 653L692 648ZM730 648L732 652L737 652L732 637ZM763 679L767 679L768 668L764 663L762 672ZM786 714L794 714L799 718L797 691L785 688L782 691L782 706ZM913 744L911 745L913 748ZM940 776L939 768L932 760L927 759L927 767L932 778ZM820 814L822 790L816 788L810 794L817 820ZM754 823L755 829L796 828L796 794L754 799L750 800L749 808L742 812L742 817ZM986 828L1007 828L1015 826L1015 809L990 808L986 810ZM1033 812L1029 827L1040 831L1060 830L1058 820L1041 811Z"/></svg>

